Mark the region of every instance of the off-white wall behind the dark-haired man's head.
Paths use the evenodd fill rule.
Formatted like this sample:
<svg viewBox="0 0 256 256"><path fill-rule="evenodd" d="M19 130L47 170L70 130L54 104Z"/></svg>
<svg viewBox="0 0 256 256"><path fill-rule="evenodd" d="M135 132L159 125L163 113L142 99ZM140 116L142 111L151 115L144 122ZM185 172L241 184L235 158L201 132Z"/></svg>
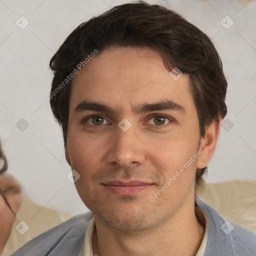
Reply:
<svg viewBox="0 0 256 256"><path fill-rule="evenodd" d="M78 24L124 2L0 0L0 139L8 171L42 205L70 213L86 209L66 177L70 167L61 130L46 98L49 60ZM228 113L206 181L256 180L256 1L148 2L198 26L212 38L223 62Z"/></svg>

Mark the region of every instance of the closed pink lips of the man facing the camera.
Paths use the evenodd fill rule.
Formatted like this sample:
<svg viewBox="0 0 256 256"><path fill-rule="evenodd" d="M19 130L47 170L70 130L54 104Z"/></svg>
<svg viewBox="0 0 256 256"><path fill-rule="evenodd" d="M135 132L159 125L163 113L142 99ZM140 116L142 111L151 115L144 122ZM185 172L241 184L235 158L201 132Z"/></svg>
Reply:
<svg viewBox="0 0 256 256"><path fill-rule="evenodd" d="M112 193L119 195L135 194L153 185L153 183L147 183L140 180L130 180L127 182L121 180L112 180L102 184Z"/></svg>

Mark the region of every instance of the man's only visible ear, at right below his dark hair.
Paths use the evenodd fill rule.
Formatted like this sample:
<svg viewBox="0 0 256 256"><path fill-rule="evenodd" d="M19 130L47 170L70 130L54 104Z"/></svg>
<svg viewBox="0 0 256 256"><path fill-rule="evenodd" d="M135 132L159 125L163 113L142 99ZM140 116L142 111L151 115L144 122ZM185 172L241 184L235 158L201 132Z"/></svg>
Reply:
<svg viewBox="0 0 256 256"><path fill-rule="evenodd" d="M206 128L204 136L200 140L199 151L201 152L197 160L196 167L201 169L207 166L211 156L213 155L217 140L218 134L220 131L221 116L219 115L216 120Z"/></svg>

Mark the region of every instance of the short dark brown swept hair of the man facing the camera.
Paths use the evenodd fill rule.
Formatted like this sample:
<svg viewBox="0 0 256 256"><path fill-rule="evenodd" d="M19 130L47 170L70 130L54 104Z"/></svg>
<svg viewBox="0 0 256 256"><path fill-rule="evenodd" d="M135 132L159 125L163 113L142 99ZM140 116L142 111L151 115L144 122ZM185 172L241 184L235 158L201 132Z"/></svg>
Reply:
<svg viewBox="0 0 256 256"><path fill-rule="evenodd" d="M188 74L201 136L214 119L225 116L227 83L219 55L208 36L172 10L137 1L115 6L81 23L51 58L54 76L50 106L62 127L64 144L72 82L66 77L95 49L102 51L111 46L150 47L160 53L168 71L177 67ZM205 170L206 167L196 170L195 183L203 181Z"/></svg>

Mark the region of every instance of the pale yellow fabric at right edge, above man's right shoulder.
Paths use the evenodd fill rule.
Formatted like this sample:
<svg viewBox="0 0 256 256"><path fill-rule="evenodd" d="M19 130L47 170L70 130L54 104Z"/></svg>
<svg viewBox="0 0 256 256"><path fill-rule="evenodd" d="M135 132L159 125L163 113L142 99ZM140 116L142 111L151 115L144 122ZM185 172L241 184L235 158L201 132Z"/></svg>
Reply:
<svg viewBox="0 0 256 256"><path fill-rule="evenodd" d="M201 184L195 194L224 219L256 232L256 181Z"/></svg>

